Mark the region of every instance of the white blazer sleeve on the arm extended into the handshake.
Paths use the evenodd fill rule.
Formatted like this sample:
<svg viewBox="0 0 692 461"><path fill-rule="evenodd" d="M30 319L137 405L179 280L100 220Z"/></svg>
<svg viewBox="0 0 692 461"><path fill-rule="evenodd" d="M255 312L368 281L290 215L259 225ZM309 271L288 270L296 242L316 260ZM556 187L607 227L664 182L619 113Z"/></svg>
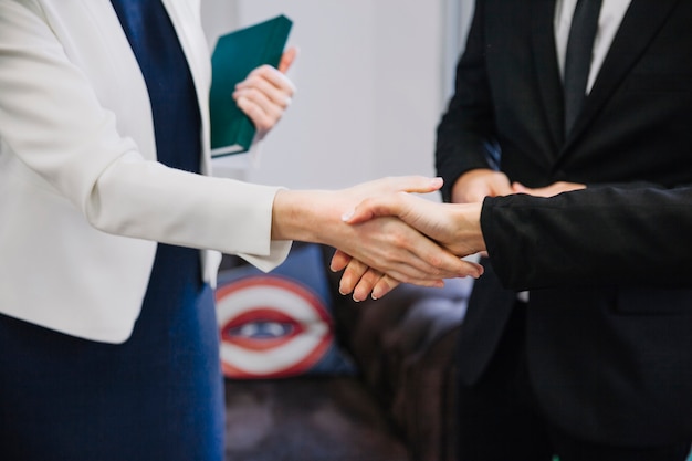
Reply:
<svg viewBox="0 0 692 461"><path fill-rule="evenodd" d="M271 241L277 188L180 171L143 155L35 4L0 4L0 154L15 156L19 174L101 231L256 256L279 249L264 269L279 263L287 248Z"/></svg>

